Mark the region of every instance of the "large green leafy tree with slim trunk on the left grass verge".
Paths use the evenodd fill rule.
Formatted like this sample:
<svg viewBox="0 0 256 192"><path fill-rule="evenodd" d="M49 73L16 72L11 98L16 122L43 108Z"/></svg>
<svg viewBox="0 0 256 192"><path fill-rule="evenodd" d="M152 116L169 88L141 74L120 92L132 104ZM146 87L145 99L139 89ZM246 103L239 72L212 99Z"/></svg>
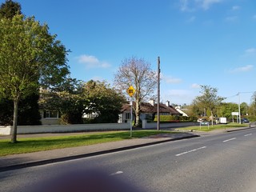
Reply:
<svg viewBox="0 0 256 192"><path fill-rule="evenodd" d="M0 19L0 45L0 94L14 102L11 142L16 142L18 103L39 86L56 86L66 78L68 51L46 24L22 14Z"/></svg>

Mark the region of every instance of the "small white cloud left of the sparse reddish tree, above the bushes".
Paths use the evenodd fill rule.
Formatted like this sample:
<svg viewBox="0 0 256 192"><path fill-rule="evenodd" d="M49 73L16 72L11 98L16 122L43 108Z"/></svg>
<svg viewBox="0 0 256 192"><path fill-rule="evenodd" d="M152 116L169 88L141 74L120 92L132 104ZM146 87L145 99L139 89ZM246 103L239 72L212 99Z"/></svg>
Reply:
<svg viewBox="0 0 256 192"><path fill-rule="evenodd" d="M93 55L86 55L82 54L78 58L78 62L85 64L88 68L108 68L110 67L110 64L107 62L99 61L98 58L96 58Z"/></svg>

